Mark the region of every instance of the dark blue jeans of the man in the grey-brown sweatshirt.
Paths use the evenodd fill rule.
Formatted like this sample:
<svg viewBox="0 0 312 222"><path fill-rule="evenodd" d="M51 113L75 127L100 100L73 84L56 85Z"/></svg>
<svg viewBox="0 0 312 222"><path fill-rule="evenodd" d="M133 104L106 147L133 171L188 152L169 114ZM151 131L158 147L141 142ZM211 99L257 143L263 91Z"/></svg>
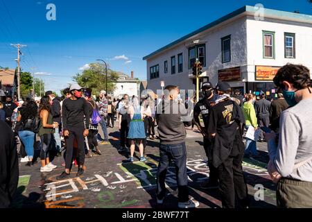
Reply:
<svg viewBox="0 0 312 222"><path fill-rule="evenodd" d="M177 198L179 202L189 200L187 187L187 148L185 143L181 144L160 144L160 160L157 171L157 198L162 200L166 195L166 173L171 160L175 164L175 175L177 178Z"/></svg>

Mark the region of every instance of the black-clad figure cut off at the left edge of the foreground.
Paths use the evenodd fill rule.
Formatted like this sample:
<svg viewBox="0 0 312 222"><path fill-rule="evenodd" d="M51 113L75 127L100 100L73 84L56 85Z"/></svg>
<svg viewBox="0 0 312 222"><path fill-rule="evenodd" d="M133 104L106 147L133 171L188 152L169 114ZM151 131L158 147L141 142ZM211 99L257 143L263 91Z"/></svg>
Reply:
<svg viewBox="0 0 312 222"><path fill-rule="evenodd" d="M19 166L12 130L0 121L0 208L9 207L17 190Z"/></svg>

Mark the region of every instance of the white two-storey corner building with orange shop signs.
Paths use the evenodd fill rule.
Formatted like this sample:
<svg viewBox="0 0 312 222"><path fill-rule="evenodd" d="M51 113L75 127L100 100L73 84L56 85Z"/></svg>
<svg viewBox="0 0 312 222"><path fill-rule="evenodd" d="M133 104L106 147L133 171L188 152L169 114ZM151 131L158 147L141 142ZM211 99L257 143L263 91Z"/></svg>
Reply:
<svg viewBox="0 0 312 222"><path fill-rule="evenodd" d="M266 92L288 62L312 70L312 15L243 6L144 57L148 89L165 85L196 89L193 63L202 62L200 83L227 81L241 92Z"/></svg>

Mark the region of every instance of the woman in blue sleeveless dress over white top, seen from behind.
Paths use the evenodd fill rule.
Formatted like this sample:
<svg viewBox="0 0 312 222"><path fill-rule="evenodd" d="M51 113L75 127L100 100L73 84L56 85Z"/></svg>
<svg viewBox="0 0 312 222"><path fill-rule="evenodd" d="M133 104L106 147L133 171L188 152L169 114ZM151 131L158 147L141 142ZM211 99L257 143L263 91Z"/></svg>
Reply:
<svg viewBox="0 0 312 222"><path fill-rule="evenodd" d="M144 144L143 141L146 139L146 133L144 130L143 115L144 111L141 109L139 99L135 97L132 101L132 105L129 107L128 113L130 114L131 121L129 126L128 139L130 139L130 157L129 161L133 162L133 154L135 153L135 142L139 144L140 161L146 161L144 157Z"/></svg>

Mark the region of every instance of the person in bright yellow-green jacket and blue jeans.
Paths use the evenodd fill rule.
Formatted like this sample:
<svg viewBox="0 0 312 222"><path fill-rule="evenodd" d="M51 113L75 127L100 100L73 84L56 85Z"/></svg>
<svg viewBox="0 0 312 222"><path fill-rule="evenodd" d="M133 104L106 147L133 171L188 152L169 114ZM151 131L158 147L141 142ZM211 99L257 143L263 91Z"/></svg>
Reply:
<svg viewBox="0 0 312 222"><path fill-rule="evenodd" d="M245 128L248 130L250 126L254 128L254 130L257 130L258 123L257 123L257 116L256 111L254 110L254 102L256 101L256 98L254 94L248 94L247 95L247 101L243 105L243 114L245 117ZM246 137L246 146L245 146L245 157L250 157L250 153L252 157L257 157L257 142L249 139Z"/></svg>

